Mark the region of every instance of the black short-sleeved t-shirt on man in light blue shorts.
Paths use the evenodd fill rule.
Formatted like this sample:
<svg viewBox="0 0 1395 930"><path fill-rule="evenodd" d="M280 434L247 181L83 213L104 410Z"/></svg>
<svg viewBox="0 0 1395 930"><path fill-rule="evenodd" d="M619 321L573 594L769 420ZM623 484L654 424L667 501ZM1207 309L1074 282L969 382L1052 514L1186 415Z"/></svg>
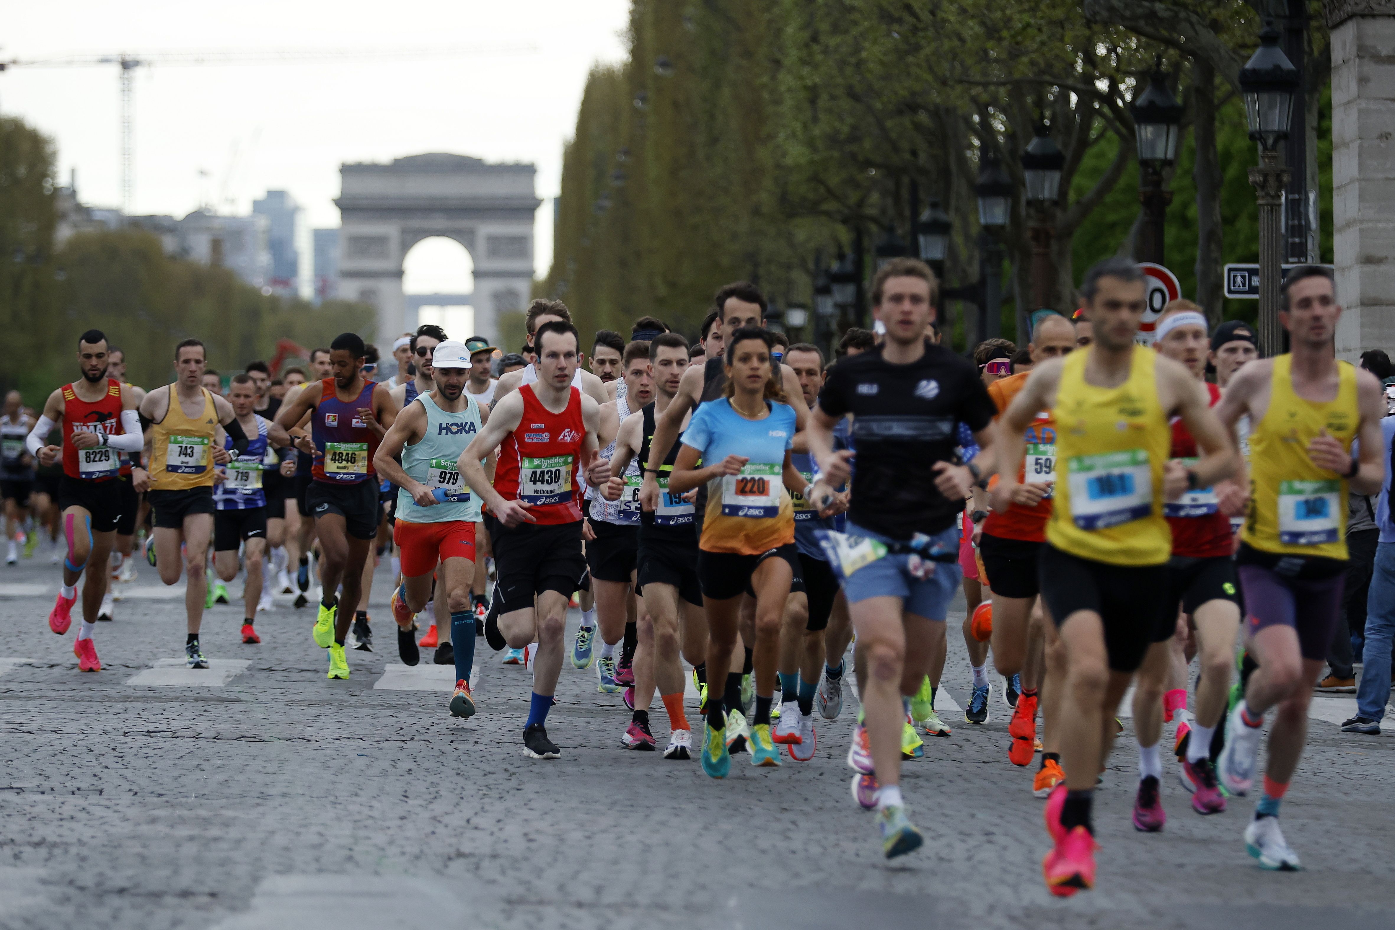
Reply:
<svg viewBox="0 0 1395 930"><path fill-rule="evenodd" d="M972 364L930 343L908 365L883 360L880 349L840 358L819 407L852 414L852 523L901 541L954 524L964 502L939 492L930 467L954 462L957 422L978 432L997 413Z"/></svg>

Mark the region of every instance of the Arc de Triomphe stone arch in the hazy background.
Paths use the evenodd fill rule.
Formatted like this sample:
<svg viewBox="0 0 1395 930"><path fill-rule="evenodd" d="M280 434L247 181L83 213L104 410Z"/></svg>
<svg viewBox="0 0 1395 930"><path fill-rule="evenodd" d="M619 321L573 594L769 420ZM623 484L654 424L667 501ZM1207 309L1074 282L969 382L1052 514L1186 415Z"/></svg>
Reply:
<svg viewBox="0 0 1395 930"><path fill-rule="evenodd" d="M378 308L379 346L405 332L402 259L430 236L474 262L474 333L451 336L497 340L498 315L523 310L533 284L534 173L448 153L339 166L339 294Z"/></svg>

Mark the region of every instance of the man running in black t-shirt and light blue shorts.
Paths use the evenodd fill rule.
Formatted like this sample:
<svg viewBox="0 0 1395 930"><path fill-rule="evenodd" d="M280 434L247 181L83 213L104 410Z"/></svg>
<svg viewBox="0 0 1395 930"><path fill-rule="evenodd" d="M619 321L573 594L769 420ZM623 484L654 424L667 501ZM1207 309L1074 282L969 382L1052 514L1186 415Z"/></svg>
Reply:
<svg viewBox="0 0 1395 930"><path fill-rule="evenodd" d="M943 643L944 612L960 583L954 517L996 462L996 409L978 372L926 339L935 291L935 273L915 259L889 262L876 273L873 315L886 326L886 343L833 367L808 431L822 473L810 499L827 510L831 488L850 477L854 457L833 450L833 428L852 414L857 468L847 535L826 538L866 669L859 675L865 726L857 726L848 752L859 772L852 793L864 806L876 805L887 857L923 842L901 803L900 735L908 697ZM981 448L968 466L954 464L958 422Z"/></svg>

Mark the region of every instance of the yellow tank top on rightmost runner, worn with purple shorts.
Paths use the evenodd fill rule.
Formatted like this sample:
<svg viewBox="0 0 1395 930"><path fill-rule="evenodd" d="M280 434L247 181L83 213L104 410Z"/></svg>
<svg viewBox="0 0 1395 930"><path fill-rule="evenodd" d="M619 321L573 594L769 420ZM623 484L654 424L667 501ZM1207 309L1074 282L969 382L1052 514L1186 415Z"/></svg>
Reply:
<svg viewBox="0 0 1395 930"><path fill-rule="evenodd" d="M1356 369L1336 363L1336 397L1293 392L1293 357L1275 356L1269 409L1250 431L1250 509L1240 538L1264 552L1346 558L1346 478L1318 468L1309 442L1321 431L1350 450L1360 413Z"/></svg>

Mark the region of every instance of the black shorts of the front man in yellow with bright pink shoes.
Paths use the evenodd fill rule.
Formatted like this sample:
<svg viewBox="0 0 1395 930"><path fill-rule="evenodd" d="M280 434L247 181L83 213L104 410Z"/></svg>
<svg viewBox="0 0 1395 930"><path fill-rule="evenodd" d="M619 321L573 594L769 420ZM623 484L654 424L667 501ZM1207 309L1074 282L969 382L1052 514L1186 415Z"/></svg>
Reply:
<svg viewBox="0 0 1395 930"><path fill-rule="evenodd" d="M1056 627L1077 611L1094 611L1105 626L1105 650L1115 672L1136 672L1148 647L1172 636L1177 605L1168 600L1170 574L1162 565L1108 565L1043 542L1038 558L1042 600Z"/></svg>

